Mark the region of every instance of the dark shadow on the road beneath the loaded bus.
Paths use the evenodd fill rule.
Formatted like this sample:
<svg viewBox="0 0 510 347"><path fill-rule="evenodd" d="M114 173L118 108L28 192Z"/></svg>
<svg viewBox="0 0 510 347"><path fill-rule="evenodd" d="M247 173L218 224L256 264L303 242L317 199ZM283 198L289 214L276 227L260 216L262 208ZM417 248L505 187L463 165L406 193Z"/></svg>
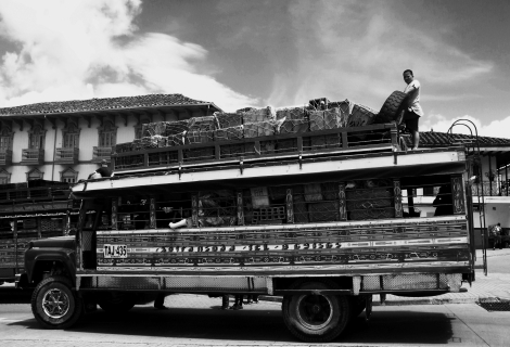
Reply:
<svg viewBox="0 0 510 347"><path fill-rule="evenodd" d="M285 329L280 307L262 305L257 309L242 311L220 310L219 307L170 308L154 310L150 306L136 307L122 314L98 309L86 314L67 330L87 334L119 335L132 337L195 338L207 340L298 340ZM267 309L266 309L267 307ZM356 318L337 339L353 344L447 344L452 337L451 320L441 312L380 311L369 323L365 316ZM11 323L27 329L41 329L34 320ZM117 338L115 338L117 339Z"/></svg>

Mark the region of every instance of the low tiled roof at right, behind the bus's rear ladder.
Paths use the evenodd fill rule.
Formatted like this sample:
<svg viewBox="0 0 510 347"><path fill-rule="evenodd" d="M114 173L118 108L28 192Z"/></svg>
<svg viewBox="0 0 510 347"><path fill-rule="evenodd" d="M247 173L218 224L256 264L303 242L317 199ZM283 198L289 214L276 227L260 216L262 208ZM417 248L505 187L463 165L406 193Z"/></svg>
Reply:
<svg viewBox="0 0 510 347"><path fill-rule="evenodd" d="M446 133L436 131L420 131L420 147L434 147L451 145L452 143L474 143L476 137L460 133ZM407 138L410 145L411 140ZM510 139L479 137L480 146L510 146Z"/></svg>

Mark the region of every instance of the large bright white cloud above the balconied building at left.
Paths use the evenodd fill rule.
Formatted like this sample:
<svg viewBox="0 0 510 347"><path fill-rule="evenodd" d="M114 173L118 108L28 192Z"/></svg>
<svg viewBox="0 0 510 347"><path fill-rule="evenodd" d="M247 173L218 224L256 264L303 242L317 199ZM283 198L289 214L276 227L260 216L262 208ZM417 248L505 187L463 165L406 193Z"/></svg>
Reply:
<svg viewBox="0 0 510 347"><path fill-rule="evenodd" d="M182 93L234 110L257 103L205 70L207 51L135 25L140 0L1 1L0 102Z"/></svg>

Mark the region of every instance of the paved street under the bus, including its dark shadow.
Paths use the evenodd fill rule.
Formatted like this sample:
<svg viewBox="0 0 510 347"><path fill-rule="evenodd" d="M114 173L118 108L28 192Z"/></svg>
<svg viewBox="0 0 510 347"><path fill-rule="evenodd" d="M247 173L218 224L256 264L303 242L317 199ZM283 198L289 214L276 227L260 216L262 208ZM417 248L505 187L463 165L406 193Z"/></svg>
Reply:
<svg viewBox="0 0 510 347"><path fill-rule="evenodd" d="M509 262L510 255L492 255L489 272L506 270ZM260 301L245 305L242 311L224 311L220 298L173 295L165 300L168 310L144 305L115 316L98 309L69 330L51 331L38 325L29 298L30 293L17 292L12 284L0 286L0 346L309 345L286 331L280 303ZM510 312L488 312L474 303L375 306L368 323L359 316L340 339L328 345L507 346L508 326Z"/></svg>

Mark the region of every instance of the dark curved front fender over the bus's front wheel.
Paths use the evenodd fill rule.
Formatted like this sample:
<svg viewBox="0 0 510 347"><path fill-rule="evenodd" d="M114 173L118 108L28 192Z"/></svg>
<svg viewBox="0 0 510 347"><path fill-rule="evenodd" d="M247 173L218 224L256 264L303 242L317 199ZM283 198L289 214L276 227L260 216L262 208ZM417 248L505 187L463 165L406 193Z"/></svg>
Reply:
<svg viewBox="0 0 510 347"><path fill-rule="evenodd" d="M28 283L35 277L37 264L42 261L60 261L71 274L73 285L76 282L76 250L68 248L30 248L25 253L25 270Z"/></svg>

